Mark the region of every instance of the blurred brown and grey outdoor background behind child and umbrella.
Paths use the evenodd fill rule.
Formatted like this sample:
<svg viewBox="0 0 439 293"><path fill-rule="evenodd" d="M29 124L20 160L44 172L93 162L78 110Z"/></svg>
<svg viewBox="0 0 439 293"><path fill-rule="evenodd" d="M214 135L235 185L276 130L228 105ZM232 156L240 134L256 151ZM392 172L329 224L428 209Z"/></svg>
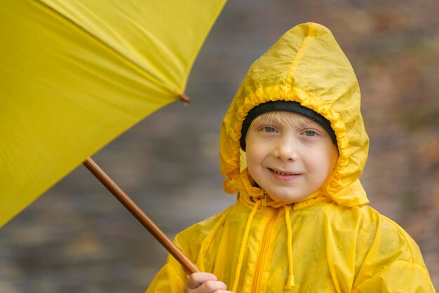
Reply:
<svg viewBox="0 0 439 293"><path fill-rule="evenodd" d="M218 136L250 64L301 22L332 30L362 92L370 205L417 241L439 288L439 1L229 1L187 95L93 158L173 238L234 203ZM166 251L79 166L0 230L0 292L144 292Z"/></svg>

